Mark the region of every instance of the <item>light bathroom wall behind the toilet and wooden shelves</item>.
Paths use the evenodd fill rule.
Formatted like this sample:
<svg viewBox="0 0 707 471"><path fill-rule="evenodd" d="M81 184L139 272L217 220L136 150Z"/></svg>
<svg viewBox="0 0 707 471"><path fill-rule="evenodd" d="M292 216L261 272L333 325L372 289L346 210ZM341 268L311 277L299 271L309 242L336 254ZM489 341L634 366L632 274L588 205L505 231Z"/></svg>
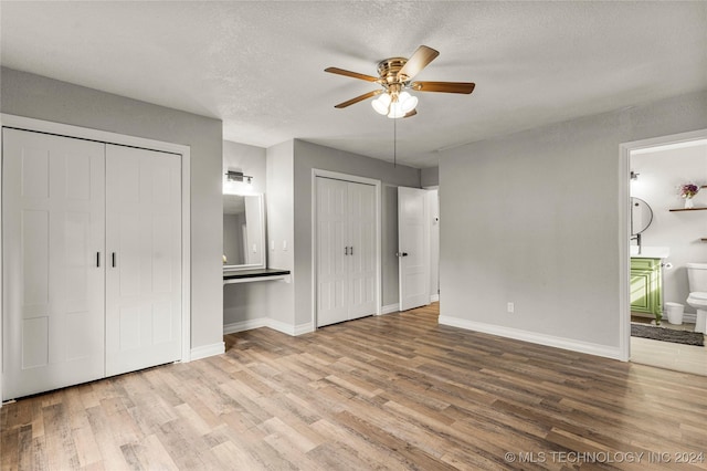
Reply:
<svg viewBox="0 0 707 471"><path fill-rule="evenodd" d="M673 264L664 270L664 302L685 305L686 313L695 313L685 300L689 293L686 263L707 262L707 210L676 211L684 200L679 186L694 182L707 185L707 143L680 148L657 148L632 153L631 169L639 178L631 182L631 196L645 200L653 209L653 222L643 232L643 245L668 247ZM695 207L707 207L707 189L693 199ZM686 316L690 320L690 316ZM694 321L694 318L693 318Z"/></svg>

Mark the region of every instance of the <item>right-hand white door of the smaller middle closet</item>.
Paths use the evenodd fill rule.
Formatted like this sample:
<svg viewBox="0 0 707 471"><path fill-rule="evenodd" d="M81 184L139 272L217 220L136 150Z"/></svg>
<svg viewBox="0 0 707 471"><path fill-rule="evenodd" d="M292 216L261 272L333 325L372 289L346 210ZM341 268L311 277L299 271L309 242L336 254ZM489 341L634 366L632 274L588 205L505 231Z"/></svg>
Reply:
<svg viewBox="0 0 707 471"><path fill-rule="evenodd" d="M349 316L376 313L376 187L347 185Z"/></svg>

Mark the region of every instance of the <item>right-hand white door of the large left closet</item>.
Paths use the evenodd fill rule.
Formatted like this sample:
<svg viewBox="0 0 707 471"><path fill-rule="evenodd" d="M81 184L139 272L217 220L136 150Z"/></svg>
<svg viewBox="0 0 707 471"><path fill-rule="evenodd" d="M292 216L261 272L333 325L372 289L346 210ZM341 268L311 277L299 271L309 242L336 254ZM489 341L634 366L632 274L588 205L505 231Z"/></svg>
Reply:
<svg viewBox="0 0 707 471"><path fill-rule="evenodd" d="M181 159L106 145L106 375L181 357Z"/></svg>

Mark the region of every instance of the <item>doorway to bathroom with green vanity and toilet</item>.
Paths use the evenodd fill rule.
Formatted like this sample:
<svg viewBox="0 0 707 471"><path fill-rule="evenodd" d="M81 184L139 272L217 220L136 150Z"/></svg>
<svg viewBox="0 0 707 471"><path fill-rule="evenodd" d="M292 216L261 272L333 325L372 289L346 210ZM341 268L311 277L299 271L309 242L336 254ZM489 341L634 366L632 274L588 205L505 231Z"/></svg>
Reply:
<svg viewBox="0 0 707 471"><path fill-rule="evenodd" d="M622 290L626 357L707 376L705 346L631 335L632 326L636 335L647 326L704 335L686 300L688 264L707 263L707 129L627 143L621 156L627 208L622 241L629 241Z"/></svg>

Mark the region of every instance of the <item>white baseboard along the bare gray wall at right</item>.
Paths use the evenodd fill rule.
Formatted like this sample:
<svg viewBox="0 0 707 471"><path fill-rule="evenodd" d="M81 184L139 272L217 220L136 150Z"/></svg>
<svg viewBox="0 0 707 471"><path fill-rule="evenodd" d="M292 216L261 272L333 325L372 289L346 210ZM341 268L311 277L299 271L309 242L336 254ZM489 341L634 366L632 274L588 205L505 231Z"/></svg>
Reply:
<svg viewBox="0 0 707 471"><path fill-rule="evenodd" d="M621 359L621 352L618 346L610 347L606 345L592 344L589 342L581 342L572 338L556 337L552 335L539 334L537 332L521 331L518 328L503 327L499 325L484 324L481 322L467 321L464 318L443 315L440 316L439 322L440 324L450 325L452 327L483 332L485 334L498 335L499 337L515 338L517 341L529 342L531 344L562 348L566 350L602 356L605 358Z"/></svg>

